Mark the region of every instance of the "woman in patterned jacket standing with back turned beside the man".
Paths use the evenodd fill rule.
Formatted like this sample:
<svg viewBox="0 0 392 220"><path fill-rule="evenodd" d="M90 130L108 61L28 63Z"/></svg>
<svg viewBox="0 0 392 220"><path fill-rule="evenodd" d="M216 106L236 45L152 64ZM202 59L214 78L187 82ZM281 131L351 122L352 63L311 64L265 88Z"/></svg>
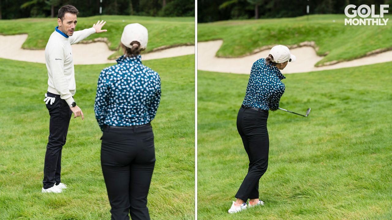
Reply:
<svg viewBox="0 0 392 220"><path fill-rule="evenodd" d="M112 220L150 219L147 194L155 164L154 119L161 97L157 72L142 64L140 50L147 46L147 29L125 26L124 55L102 70L94 104L103 132L101 165Z"/></svg>

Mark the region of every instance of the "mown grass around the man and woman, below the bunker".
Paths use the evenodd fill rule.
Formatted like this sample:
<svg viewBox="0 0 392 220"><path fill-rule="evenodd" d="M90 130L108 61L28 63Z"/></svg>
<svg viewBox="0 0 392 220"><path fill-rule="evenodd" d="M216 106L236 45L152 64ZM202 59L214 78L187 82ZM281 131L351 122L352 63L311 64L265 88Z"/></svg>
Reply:
<svg viewBox="0 0 392 220"><path fill-rule="evenodd" d="M175 63L173 67L173 63ZM148 197L152 219L194 219L194 55L144 61L160 74L162 99L152 121L156 164ZM0 59L0 219L103 220L110 206L100 165L102 132L96 84L109 66L76 65L78 106L62 151L61 194L41 193L49 135L45 64Z"/></svg>

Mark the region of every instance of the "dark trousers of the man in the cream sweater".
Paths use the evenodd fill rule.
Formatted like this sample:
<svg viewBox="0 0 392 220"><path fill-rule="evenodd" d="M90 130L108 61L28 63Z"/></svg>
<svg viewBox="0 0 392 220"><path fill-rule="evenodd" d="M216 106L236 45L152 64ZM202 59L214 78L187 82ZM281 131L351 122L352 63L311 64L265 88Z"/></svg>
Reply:
<svg viewBox="0 0 392 220"><path fill-rule="evenodd" d="M46 104L49 110L49 138L46 146L45 164L44 164L44 189L51 188L56 182L61 182L61 150L67 139L69 120L71 120L72 111L60 95L50 92L46 93L48 97L55 97L54 103Z"/></svg>

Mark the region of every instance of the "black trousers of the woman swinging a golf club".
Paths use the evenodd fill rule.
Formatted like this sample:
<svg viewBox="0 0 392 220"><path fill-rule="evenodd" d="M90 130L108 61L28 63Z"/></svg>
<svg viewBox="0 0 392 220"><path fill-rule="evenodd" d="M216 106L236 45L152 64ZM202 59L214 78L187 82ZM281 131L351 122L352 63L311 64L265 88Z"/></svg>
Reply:
<svg viewBox="0 0 392 220"><path fill-rule="evenodd" d="M267 171L269 139L267 110L241 107L237 116L237 130L249 157L249 169L236 198L244 200L259 198L259 180Z"/></svg>

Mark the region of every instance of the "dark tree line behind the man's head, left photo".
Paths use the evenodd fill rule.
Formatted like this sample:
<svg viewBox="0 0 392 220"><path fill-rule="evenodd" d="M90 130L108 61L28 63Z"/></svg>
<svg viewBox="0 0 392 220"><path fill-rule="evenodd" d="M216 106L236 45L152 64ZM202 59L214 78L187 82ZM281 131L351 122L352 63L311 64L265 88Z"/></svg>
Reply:
<svg viewBox="0 0 392 220"><path fill-rule="evenodd" d="M194 16L194 0L0 0L0 19L57 17L63 5L74 5L79 16L102 14Z"/></svg>

